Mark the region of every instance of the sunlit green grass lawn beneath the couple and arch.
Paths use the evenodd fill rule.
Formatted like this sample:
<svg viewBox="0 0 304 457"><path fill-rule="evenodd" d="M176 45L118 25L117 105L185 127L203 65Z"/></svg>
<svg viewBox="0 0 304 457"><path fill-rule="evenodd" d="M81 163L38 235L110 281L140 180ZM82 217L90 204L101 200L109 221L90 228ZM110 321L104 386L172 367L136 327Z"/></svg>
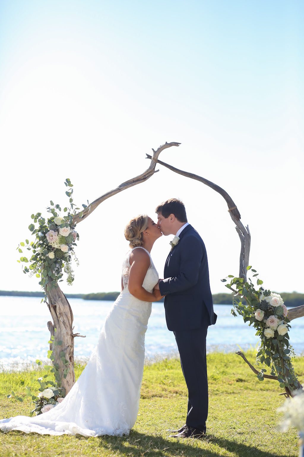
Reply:
<svg viewBox="0 0 304 457"><path fill-rule="evenodd" d="M247 352L254 364L254 354ZM297 456L296 430L281 432L282 416L276 409L284 401L282 389L273 380L258 381L235 354L207 356L209 416L207 436L202 440L169 438L168 428L185 422L187 390L176 360L144 367L138 419L129 436L40 436L22 432L0 434L0 456L189 456L189 457L271 457ZM303 383L304 357L294 359L294 368ZM76 367L78 377L83 367ZM0 373L0 417L28 415L30 403L6 398L14 390L24 397L24 387L32 373ZM1 432L0 432L1 433Z"/></svg>

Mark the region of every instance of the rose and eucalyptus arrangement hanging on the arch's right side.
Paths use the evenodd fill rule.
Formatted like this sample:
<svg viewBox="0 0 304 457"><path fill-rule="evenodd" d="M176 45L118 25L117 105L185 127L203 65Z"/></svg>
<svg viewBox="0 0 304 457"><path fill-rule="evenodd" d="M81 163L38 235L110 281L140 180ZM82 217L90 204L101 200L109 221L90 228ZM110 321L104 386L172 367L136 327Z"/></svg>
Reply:
<svg viewBox="0 0 304 457"><path fill-rule="evenodd" d="M251 270L247 266L247 270ZM251 270L258 276L256 270ZM231 314L242 316L244 322L249 322L249 326L257 330L256 335L260 337L260 346L257 351L257 365L263 364L257 377L259 381L264 380L264 373L267 367L270 368L271 376L277 376L281 388L285 388L287 393L301 388L301 385L294 373L291 357L294 357L294 349L289 343L290 321L288 319L288 309L284 305L283 299L278 293L265 290L261 285L263 281L257 280L257 285L261 286L258 290L254 288L252 280L244 281L243 278L233 275L227 276L231 279L230 284L226 284L228 289L234 292L233 309ZM222 279L226 282L226 279ZM245 300L246 303L242 303Z"/></svg>

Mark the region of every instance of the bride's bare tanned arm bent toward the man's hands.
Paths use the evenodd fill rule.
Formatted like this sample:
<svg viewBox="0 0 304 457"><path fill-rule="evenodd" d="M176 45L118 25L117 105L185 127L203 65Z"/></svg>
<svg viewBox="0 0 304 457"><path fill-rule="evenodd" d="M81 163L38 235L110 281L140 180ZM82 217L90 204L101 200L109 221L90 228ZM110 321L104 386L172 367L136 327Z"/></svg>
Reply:
<svg viewBox="0 0 304 457"><path fill-rule="evenodd" d="M143 287L144 277L150 266L150 257L143 249L134 249L130 255L128 289L130 294L143 302L156 302L161 296L147 292Z"/></svg>

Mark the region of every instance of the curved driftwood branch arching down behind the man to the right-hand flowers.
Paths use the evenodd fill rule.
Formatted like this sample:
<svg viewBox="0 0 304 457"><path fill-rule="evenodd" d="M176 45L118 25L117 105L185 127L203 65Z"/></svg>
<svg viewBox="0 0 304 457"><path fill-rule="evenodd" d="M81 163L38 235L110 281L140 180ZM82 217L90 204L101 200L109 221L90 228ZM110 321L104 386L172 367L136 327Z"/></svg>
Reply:
<svg viewBox="0 0 304 457"><path fill-rule="evenodd" d="M161 162L160 160L157 160L154 156L151 157L149 154L147 155L147 159L153 159L156 160L157 163L160 165L163 165L166 168L169 168L169 170L174 171L175 173L178 173L179 175L186 176L187 178L195 179L196 181L200 181L203 184L206 184L206 186L211 187L214 191L218 192L219 194L222 195L222 197L226 200L227 205L228 205L228 211L230 213L230 216L232 218L232 221L236 224L236 230L237 234L240 237L241 240L241 253L240 253L240 269L239 269L239 277L244 278L246 280L247 278L247 266L249 265L249 252L250 252L250 232L249 228L247 225L247 228L245 228L240 221L241 215L237 209L237 205L233 202L232 198L230 195L227 194L222 187L217 186L211 181L208 181L205 178L202 178L201 176L194 175L193 173L189 173L187 171L179 170L178 168L172 167L171 165L166 164L165 162Z"/></svg>

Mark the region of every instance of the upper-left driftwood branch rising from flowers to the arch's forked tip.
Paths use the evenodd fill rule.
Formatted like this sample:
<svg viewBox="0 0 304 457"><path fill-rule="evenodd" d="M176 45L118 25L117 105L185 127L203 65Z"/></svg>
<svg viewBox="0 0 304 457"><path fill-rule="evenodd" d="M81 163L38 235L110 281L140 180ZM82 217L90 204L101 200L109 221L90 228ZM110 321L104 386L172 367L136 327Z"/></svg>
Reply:
<svg viewBox="0 0 304 457"><path fill-rule="evenodd" d="M82 217L79 216L79 213L77 213L74 216L73 223L79 223L79 222L83 221L85 218L87 218L89 216L89 214L91 214L94 211L94 209L96 209L98 207L98 205L100 205L100 203L104 202L104 200L106 200L107 198L113 197L113 195L118 194L119 192L124 191L125 189L128 189L129 187L136 186L136 184L140 184L141 182L147 181L147 179L149 179L152 175L154 175L154 173L156 173L158 171L158 170L155 171L155 166L156 166L156 162L157 162L158 156L160 155L161 151L163 151L164 149L170 148L171 146L179 146L179 145L180 145L180 143L176 143L176 142L172 142L172 143L165 142L165 144L163 144L158 149L156 149L156 151L154 149L152 149L153 157L150 156L151 163L149 165L149 168L147 168L147 170L145 170L144 173L142 173L139 176L135 176L135 178L132 178L132 179L129 179L128 181L123 182L118 187L116 187L116 189L113 189L112 191L109 191L109 192L103 194L101 197L98 197L96 200L94 200L94 202L92 202L88 206L88 208L86 208L82 212Z"/></svg>

